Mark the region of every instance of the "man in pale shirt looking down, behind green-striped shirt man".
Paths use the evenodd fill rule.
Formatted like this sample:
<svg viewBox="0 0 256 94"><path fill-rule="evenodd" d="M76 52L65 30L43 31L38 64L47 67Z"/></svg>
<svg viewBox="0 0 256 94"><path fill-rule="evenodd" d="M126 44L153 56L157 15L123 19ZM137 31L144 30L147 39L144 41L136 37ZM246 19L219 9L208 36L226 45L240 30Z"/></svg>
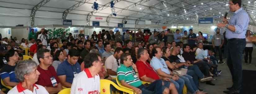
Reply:
<svg viewBox="0 0 256 94"><path fill-rule="evenodd" d="M110 55L105 61L105 70L111 76L116 76L117 67L120 66L120 57L123 54L123 49L117 47L114 55Z"/></svg>

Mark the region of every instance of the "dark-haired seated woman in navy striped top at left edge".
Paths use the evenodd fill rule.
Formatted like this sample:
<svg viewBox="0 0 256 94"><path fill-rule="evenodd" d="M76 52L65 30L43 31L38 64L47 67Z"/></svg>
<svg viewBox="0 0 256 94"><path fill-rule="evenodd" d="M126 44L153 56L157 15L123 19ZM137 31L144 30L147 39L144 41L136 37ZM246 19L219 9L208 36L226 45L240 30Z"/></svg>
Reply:
<svg viewBox="0 0 256 94"><path fill-rule="evenodd" d="M14 49L9 50L6 53L6 60L7 64L2 68L0 76L5 85L14 87L18 84L18 80L14 73L16 63L19 60L18 52Z"/></svg>

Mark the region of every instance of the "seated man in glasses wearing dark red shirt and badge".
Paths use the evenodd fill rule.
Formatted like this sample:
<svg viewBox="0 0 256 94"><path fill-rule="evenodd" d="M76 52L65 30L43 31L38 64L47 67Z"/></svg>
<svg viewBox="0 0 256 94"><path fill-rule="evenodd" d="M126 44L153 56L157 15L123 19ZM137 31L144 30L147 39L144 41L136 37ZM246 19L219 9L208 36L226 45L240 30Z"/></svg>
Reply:
<svg viewBox="0 0 256 94"><path fill-rule="evenodd" d="M37 51L37 59L40 64L37 67L38 72L40 72L38 81L36 84L45 87L47 92L50 94L55 94L61 91L62 85L57 73L52 67L52 55L48 49L39 49Z"/></svg>

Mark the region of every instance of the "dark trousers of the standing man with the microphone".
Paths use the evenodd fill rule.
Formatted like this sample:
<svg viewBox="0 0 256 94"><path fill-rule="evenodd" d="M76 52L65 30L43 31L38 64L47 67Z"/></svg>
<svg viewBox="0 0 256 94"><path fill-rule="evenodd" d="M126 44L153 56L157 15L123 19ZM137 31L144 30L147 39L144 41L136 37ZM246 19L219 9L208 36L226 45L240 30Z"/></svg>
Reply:
<svg viewBox="0 0 256 94"><path fill-rule="evenodd" d="M245 39L234 39L227 42L227 66L232 76L232 87L240 90L242 87L242 54L245 49Z"/></svg>

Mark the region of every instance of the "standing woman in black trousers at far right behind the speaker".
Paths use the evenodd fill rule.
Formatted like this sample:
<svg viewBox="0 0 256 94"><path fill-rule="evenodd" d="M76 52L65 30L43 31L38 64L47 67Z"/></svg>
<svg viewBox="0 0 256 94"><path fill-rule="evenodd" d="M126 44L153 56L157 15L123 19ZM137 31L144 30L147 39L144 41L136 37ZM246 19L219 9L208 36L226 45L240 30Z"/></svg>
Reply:
<svg viewBox="0 0 256 94"><path fill-rule="evenodd" d="M251 31L246 31L246 45L245 45L245 65L248 63L249 54L249 65L252 65L252 52L253 52L253 42L249 41L247 38L252 37Z"/></svg>

